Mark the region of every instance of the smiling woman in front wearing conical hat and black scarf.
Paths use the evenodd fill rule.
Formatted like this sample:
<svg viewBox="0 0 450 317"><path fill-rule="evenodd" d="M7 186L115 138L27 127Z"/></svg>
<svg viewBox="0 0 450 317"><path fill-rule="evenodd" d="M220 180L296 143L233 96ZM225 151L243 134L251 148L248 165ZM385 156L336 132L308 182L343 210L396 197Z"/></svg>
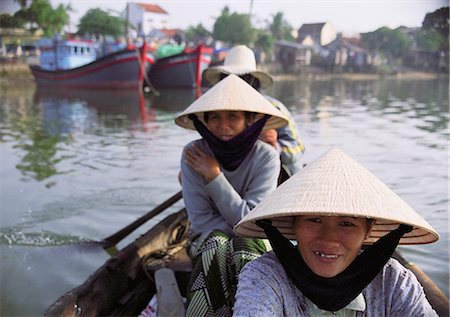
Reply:
<svg viewBox="0 0 450 317"><path fill-rule="evenodd" d="M437 316L391 255L399 243L431 243L438 234L336 148L278 187L235 232L267 237L273 251L242 270L234 316Z"/></svg>

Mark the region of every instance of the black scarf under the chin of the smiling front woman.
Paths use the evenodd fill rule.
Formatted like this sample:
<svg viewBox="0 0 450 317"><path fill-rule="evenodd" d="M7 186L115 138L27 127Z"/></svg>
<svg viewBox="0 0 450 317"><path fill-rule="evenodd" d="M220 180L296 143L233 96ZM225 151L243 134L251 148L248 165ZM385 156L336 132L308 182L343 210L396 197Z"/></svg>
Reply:
<svg viewBox="0 0 450 317"><path fill-rule="evenodd" d="M284 237L270 220L258 220L275 254L295 286L320 309L338 311L369 285L391 257L403 234L412 230L401 224L365 249L338 275L325 278L315 274L304 262L297 247Z"/></svg>

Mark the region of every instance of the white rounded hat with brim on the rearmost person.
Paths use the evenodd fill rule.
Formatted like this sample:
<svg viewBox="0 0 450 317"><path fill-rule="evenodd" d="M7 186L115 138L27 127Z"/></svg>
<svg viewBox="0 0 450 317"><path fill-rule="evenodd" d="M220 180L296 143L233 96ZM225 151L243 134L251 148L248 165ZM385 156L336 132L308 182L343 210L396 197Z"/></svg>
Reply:
<svg viewBox="0 0 450 317"><path fill-rule="evenodd" d="M245 45L237 45L228 51L223 65L211 66L203 71L202 76L212 85L220 80L221 74L250 74L259 79L261 88L267 88L273 84L270 75L256 69L255 54Z"/></svg>

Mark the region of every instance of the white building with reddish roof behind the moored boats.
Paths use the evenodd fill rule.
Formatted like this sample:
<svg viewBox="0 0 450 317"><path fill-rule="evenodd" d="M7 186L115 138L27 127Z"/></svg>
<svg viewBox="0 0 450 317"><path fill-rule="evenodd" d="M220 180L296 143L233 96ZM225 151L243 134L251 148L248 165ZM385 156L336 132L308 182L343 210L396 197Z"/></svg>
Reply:
<svg viewBox="0 0 450 317"><path fill-rule="evenodd" d="M157 4L129 2L125 14L139 35L147 36L154 29L168 28L169 14Z"/></svg>

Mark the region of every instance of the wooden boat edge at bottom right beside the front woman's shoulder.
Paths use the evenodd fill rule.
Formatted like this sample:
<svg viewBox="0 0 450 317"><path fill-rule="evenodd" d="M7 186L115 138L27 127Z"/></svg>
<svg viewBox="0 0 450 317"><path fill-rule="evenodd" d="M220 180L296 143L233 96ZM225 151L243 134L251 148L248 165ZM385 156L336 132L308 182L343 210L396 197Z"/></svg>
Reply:
<svg viewBox="0 0 450 317"><path fill-rule="evenodd" d="M411 270L414 275L419 280L420 284L422 284L423 291L427 296L428 301L431 306L433 306L434 310L438 313L439 316L448 316L449 315L449 301L447 296L437 287L437 285L425 274L424 271L417 265L412 262L406 260L398 250L394 252L392 255L395 259L397 259L404 267Z"/></svg>

